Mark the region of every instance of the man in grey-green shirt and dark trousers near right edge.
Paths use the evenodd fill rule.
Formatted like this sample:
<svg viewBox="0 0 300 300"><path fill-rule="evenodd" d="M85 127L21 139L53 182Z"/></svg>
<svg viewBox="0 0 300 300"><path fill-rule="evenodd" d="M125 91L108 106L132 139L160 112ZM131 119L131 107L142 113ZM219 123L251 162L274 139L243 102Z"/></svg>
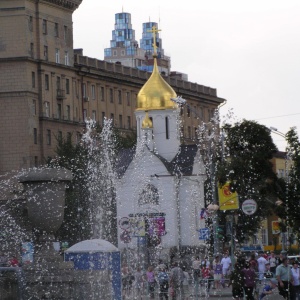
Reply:
<svg viewBox="0 0 300 300"><path fill-rule="evenodd" d="M288 262L289 260L286 257L282 258L282 263L276 268L276 279L279 295L284 299L292 300L291 283L293 283L293 276Z"/></svg>

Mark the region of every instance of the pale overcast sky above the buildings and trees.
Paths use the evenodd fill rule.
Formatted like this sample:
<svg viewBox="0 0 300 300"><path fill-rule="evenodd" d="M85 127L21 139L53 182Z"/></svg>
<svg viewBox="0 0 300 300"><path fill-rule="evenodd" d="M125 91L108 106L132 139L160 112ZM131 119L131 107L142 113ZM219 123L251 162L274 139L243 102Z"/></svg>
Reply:
<svg viewBox="0 0 300 300"><path fill-rule="evenodd" d="M115 14L131 14L136 40L142 23L159 24L171 70L217 89L222 119L254 120L286 133L300 131L299 0L83 0L73 15L74 47L104 59ZM279 150L285 139L272 134Z"/></svg>

